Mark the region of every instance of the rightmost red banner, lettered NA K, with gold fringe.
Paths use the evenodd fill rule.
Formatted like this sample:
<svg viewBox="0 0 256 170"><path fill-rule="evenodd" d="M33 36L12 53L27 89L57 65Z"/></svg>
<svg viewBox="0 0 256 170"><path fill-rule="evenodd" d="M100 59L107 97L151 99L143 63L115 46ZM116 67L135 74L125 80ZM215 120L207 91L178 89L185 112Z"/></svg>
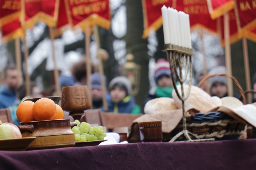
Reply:
<svg viewBox="0 0 256 170"><path fill-rule="evenodd" d="M256 28L256 0L234 0L240 36Z"/></svg>

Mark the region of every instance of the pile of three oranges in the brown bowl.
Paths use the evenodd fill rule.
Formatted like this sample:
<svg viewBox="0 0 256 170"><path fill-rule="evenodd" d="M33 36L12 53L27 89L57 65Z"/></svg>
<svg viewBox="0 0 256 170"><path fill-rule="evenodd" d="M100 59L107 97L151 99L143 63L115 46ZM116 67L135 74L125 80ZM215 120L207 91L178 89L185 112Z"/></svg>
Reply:
<svg viewBox="0 0 256 170"><path fill-rule="evenodd" d="M41 98L35 103L25 101L19 104L16 116L20 122L63 119L62 108L53 100Z"/></svg>

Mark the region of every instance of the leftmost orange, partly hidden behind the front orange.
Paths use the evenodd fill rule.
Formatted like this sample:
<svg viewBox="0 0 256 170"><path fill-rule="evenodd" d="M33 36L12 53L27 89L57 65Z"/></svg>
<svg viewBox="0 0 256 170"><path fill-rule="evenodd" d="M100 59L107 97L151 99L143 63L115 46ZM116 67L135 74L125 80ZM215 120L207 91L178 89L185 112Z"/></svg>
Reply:
<svg viewBox="0 0 256 170"><path fill-rule="evenodd" d="M20 122L35 121L33 116L33 105L32 101L25 101L18 105L16 110L16 116Z"/></svg>

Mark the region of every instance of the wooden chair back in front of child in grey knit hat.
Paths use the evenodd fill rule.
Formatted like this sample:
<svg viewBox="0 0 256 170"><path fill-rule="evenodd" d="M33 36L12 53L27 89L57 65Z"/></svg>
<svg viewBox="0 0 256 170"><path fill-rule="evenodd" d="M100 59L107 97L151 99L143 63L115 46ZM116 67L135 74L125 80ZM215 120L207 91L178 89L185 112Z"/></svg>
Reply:
<svg viewBox="0 0 256 170"><path fill-rule="evenodd" d="M128 113L114 114L109 112L100 112L102 126L106 126L107 129L114 129L119 127L128 127L131 129L131 124L134 119L137 119L142 114L132 115Z"/></svg>

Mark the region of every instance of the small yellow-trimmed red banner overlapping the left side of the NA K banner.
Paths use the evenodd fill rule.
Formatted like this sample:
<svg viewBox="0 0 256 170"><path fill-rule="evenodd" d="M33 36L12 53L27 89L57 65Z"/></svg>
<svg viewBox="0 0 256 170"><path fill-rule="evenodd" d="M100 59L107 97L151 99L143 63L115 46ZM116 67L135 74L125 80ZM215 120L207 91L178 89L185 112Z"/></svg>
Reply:
<svg viewBox="0 0 256 170"><path fill-rule="evenodd" d="M207 4L212 19L221 17L234 8L233 0L207 0Z"/></svg>

